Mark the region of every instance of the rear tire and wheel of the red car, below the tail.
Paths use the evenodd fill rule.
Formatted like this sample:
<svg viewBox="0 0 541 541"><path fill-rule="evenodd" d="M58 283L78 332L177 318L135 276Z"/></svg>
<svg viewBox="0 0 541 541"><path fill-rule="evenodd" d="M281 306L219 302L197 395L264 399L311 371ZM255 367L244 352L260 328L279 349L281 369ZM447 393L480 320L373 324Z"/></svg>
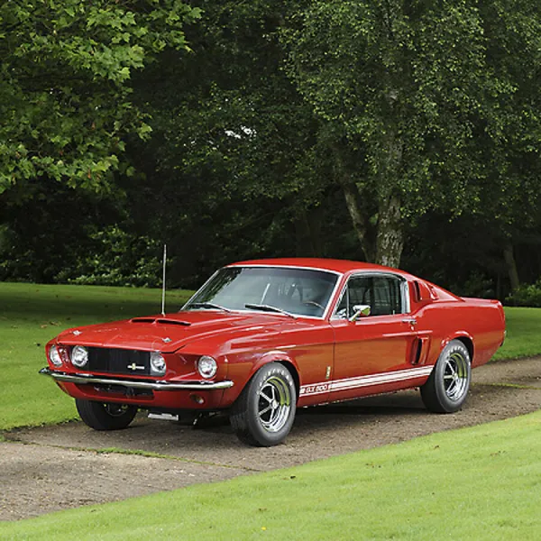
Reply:
<svg viewBox="0 0 541 541"><path fill-rule="evenodd" d="M421 387L426 409L435 413L454 413L462 408L472 381L472 362L468 348L452 340L440 353L434 370Z"/></svg>

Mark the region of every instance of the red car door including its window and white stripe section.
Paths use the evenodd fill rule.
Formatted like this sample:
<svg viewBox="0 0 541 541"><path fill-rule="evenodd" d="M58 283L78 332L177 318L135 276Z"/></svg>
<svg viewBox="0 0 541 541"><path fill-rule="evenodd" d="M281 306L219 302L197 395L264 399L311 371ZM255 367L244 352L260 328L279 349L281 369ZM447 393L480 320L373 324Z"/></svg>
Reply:
<svg viewBox="0 0 541 541"><path fill-rule="evenodd" d="M369 316L353 320L356 308ZM331 399L403 389L426 367L415 366L416 319L409 314L408 282L392 273L363 273L347 281L331 318L335 363Z"/></svg>

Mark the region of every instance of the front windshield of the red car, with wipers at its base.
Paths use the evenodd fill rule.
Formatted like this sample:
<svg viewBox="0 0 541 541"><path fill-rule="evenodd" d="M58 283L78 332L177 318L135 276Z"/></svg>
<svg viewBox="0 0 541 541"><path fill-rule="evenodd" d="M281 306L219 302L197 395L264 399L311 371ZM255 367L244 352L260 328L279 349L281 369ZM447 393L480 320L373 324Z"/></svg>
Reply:
<svg viewBox="0 0 541 541"><path fill-rule="evenodd" d="M321 317L336 280L332 272L293 267L225 267L183 309L283 311Z"/></svg>

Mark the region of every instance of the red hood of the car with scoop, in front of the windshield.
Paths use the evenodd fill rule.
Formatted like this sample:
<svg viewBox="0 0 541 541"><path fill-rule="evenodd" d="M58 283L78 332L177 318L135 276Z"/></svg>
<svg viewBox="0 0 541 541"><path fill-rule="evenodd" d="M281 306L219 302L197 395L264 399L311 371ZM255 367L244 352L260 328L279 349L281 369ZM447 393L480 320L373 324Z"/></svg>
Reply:
<svg viewBox="0 0 541 541"><path fill-rule="evenodd" d="M306 320L304 322L310 325ZM67 345L173 353L188 343L212 335L220 335L226 340L251 332L280 333L299 324L300 319L289 316L197 310L74 327L62 332L57 340Z"/></svg>

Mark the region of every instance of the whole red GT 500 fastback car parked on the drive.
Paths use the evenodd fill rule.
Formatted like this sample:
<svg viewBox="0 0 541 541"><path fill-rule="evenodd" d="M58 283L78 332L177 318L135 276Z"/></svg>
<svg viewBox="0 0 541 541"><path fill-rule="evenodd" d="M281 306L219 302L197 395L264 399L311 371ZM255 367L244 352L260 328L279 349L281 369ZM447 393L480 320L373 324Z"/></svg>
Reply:
<svg viewBox="0 0 541 541"><path fill-rule="evenodd" d="M237 436L280 444L296 408L420 388L462 407L472 367L503 343L500 302L460 298L408 272L276 259L220 269L173 314L69 329L46 346L52 377L96 430L228 410ZM175 416L175 417L170 417Z"/></svg>

